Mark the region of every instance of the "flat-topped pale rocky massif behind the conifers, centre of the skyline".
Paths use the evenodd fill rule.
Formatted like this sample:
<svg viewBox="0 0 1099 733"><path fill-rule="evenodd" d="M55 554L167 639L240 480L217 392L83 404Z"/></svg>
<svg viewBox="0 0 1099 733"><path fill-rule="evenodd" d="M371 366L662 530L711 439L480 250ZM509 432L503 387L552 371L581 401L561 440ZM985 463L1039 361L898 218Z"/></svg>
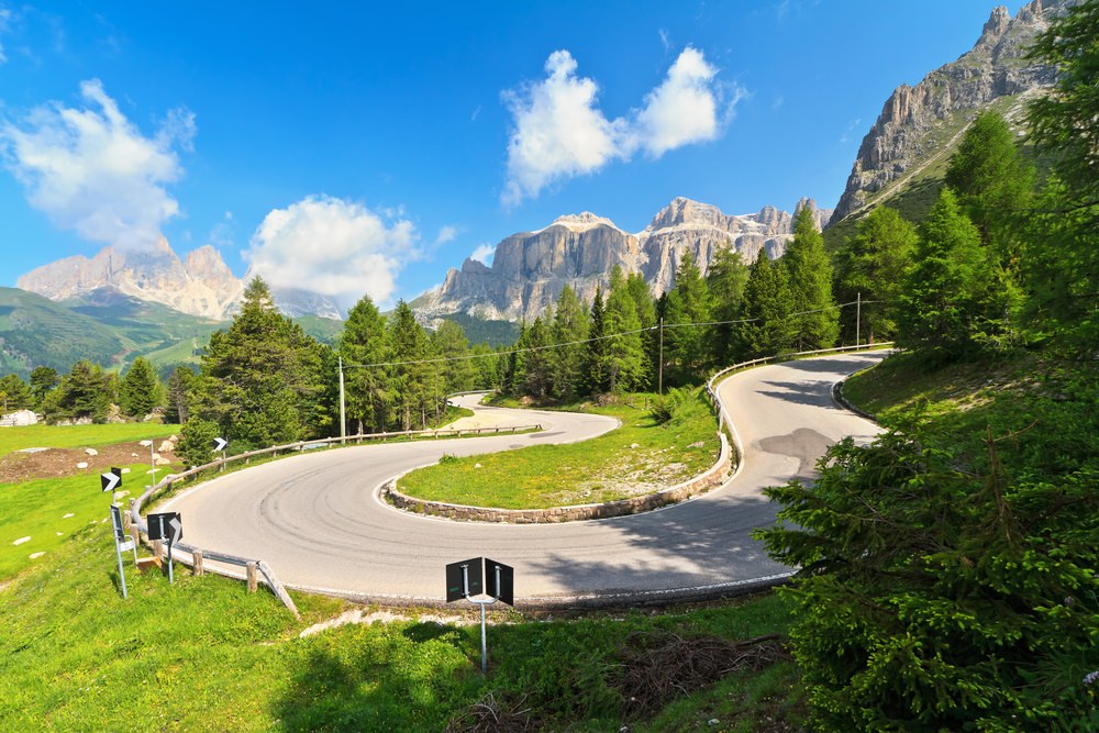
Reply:
<svg viewBox="0 0 1099 733"><path fill-rule="evenodd" d="M831 210L802 199L795 214L812 207L818 225ZM443 285L412 301L425 320L449 313L518 321L540 315L567 284L590 301L598 286L607 287L615 265L640 271L653 292L675 284L675 271L690 252L706 271L718 249L733 247L745 262L766 252L782 254L792 236L793 215L774 207L753 214L729 215L708 203L677 198L643 231L632 234L590 212L556 219L533 232L512 234L496 247L491 267L466 259L451 269Z"/></svg>

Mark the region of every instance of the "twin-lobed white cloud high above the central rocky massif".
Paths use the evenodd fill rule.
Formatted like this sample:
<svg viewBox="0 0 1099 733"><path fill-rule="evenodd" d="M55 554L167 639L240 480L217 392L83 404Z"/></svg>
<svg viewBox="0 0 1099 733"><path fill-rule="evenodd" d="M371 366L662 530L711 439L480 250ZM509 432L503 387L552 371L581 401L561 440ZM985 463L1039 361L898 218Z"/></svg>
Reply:
<svg viewBox="0 0 1099 733"><path fill-rule="evenodd" d="M577 75L567 51L555 51L546 78L503 92L511 112L508 169L501 201L515 206L546 186L599 170L639 149L658 158L666 152L718 137L741 97L722 99L718 69L688 46L665 80L645 96L641 109L608 119L598 105L599 86ZM722 112L722 108L725 109Z"/></svg>

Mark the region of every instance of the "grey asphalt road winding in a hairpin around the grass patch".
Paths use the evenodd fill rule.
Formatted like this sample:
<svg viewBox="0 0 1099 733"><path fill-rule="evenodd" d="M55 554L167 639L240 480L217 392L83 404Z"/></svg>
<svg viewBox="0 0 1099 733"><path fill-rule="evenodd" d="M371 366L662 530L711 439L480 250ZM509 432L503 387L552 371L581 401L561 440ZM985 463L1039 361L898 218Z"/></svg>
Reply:
<svg viewBox="0 0 1099 733"><path fill-rule="evenodd" d="M378 487L444 453L475 455L585 440L613 421L522 411L546 430L518 436L341 448L304 454L199 485L163 509L182 515L188 544L262 557L289 587L388 603L437 604L443 566L486 556L515 568L517 606L613 604L701 598L767 582L775 563L753 527L777 507L761 490L809 477L828 445L878 427L836 406L831 386L885 354L844 354L764 366L719 388L739 434L741 469L675 507L567 524L481 524L397 511ZM507 415L499 419L507 419Z"/></svg>

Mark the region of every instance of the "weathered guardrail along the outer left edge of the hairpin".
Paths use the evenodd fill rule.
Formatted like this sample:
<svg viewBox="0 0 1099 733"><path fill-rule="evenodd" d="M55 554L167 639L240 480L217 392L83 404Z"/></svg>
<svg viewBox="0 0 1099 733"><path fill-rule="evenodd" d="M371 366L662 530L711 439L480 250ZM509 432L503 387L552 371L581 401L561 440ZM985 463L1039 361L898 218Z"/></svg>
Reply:
<svg viewBox="0 0 1099 733"><path fill-rule="evenodd" d="M262 448L258 451L247 451L245 453L238 453L234 456L227 456L225 458L219 458L217 460L211 460L208 464L201 466L195 466L181 474L168 474L158 482L148 487L144 493L135 499L130 500L130 522L132 527L134 527L134 538L141 540L141 534L145 534L146 538L148 536L148 524L145 519L141 515L142 507L147 502L153 495L160 491L170 491L171 486L181 480L186 480L192 476L197 476L203 471L217 468L219 471L224 470L226 464L235 463L238 460L244 460L247 463L251 458L259 456L277 456L280 452L291 453L298 452L302 453L309 448L321 448L328 447L334 443L342 444L341 447L346 447L349 442L354 442L356 445L362 444L364 441L378 441L393 437L408 437L410 441L415 438L440 438L440 437L463 437L469 435L499 435L503 434L515 434L519 432L526 431L540 431L542 430L541 424L533 425L513 425L513 426L493 426L493 427L465 427L465 429L439 429L439 430L413 430L413 431L402 431L402 432L387 432L387 433L359 433L357 435L347 435L343 437L325 437L315 441L298 441L297 443L287 443L286 445L275 445L269 448ZM240 555L230 555L226 553L219 553L215 551L207 551L200 547L196 547L190 544L179 543L173 547L173 549L181 549L182 552L190 555L190 563L185 558L179 558L185 565L193 565L195 553L200 553L204 560L211 560L214 563L222 563L225 565L235 565L237 567L255 567L259 573L263 574L267 586L271 589L271 592L286 606L293 614L300 618L298 608L295 606L293 600L290 595L286 591L286 588L279 581L275 571L271 569L267 563L262 559L241 557ZM229 575L215 567L210 568L211 571L218 573L219 575Z"/></svg>

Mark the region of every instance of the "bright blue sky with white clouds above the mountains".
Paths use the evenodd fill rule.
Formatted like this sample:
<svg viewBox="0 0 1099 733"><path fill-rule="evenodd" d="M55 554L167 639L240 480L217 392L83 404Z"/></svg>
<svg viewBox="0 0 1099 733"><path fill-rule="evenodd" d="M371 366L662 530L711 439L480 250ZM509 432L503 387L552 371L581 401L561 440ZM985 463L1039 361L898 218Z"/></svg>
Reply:
<svg viewBox="0 0 1099 733"><path fill-rule="evenodd" d="M564 213L831 207L993 7L403 4L0 0L0 286L163 233L388 306Z"/></svg>

